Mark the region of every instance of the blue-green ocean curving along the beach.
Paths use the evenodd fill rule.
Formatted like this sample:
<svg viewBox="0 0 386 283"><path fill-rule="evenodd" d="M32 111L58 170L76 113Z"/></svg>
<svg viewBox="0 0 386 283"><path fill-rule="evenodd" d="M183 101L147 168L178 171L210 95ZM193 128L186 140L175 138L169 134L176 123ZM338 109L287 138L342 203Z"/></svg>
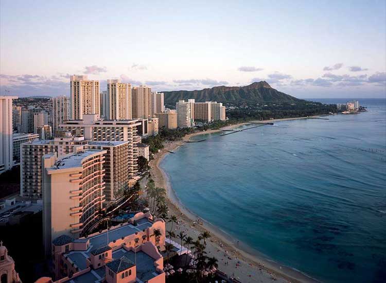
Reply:
<svg viewBox="0 0 386 283"><path fill-rule="evenodd" d="M268 259L324 282L384 282L386 100L358 100L367 112L195 136L208 140L161 167L189 210Z"/></svg>

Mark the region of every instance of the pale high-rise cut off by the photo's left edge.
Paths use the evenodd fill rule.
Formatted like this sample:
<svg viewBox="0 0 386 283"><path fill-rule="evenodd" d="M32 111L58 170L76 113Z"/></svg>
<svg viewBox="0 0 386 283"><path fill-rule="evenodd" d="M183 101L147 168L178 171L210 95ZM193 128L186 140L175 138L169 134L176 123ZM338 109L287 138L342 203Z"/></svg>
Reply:
<svg viewBox="0 0 386 283"><path fill-rule="evenodd" d="M0 173L13 166L12 99L16 96L0 96Z"/></svg>

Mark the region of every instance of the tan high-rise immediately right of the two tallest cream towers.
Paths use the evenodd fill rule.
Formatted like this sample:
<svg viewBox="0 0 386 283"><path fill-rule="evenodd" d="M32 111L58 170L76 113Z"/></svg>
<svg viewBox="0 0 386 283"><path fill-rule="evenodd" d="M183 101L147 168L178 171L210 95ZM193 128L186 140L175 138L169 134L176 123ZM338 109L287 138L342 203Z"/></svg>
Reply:
<svg viewBox="0 0 386 283"><path fill-rule="evenodd" d="M146 85L134 86L131 90L131 109L132 118L152 117L153 96L151 87Z"/></svg>

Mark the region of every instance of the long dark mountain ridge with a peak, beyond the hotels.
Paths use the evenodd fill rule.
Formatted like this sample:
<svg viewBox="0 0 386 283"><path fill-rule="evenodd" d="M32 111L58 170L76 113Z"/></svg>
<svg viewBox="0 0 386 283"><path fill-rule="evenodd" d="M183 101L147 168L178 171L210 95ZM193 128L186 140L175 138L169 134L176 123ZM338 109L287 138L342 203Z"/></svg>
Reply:
<svg viewBox="0 0 386 283"><path fill-rule="evenodd" d="M273 89L266 81L253 82L244 86L214 86L195 91L163 92L166 104L176 103L180 99L195 99L198 102L301 102L302 99Z"/></svg>

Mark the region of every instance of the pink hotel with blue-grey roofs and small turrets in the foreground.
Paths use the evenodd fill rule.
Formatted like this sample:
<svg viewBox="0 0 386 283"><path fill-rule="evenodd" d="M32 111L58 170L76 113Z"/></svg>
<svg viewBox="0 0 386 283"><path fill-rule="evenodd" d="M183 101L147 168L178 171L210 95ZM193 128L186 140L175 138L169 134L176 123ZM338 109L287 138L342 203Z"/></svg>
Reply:
<svg viewBox="0 0 386 283"><path fill-rule="evenodd" d="M155 236L154 231L161 232ZM61 235L52 241L55 283L165 283L163 256L165 221L137 213L127 223L74 239ZM37 282L53 282L42 277Z"/></svg>

